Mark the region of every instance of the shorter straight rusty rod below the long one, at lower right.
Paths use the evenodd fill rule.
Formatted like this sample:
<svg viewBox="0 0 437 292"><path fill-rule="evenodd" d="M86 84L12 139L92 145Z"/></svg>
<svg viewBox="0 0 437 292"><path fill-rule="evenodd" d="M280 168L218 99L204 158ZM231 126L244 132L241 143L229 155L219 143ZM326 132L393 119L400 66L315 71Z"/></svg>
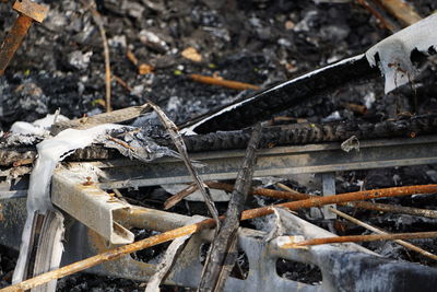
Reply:
<svg viewBox="0 0 437 292"><path fill-rule="evenodd" d="M347 235L324 238L311 238L303 242L295 242L295 236L290 236L290 243L281 244L281 248L296 248L303 246L334 244L334 243L359 243L359 242L377 242L392 240L417 240L437 237L437 231L430 232L412 232L412 233L391 233L391 234L371 234L371 235Z"/></svg>

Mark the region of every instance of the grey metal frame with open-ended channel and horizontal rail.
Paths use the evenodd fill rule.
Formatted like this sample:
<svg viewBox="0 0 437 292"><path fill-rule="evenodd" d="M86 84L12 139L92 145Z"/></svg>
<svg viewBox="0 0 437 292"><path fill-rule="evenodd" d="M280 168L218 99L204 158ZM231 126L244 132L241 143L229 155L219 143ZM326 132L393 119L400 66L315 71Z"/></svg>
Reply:
<svg viewBox="0 0 437 292"><path fill-rule="evenodd" d="M191 157L206 165L201 168L204 179L227 179L235 178L243 156L244 151L224 151L198 153ZM332 173L335 171L432 163L437 163L437 136L362 141L359 152L350 153L342 151L340 143L263 150L260 151L256 176L331 173L327 175L332 178ZM133 234L129 229L140 227L163 232L182 226L192 220L190 217L131 206L104 190L190 183L191 178L180 161L164 159L144 164L123 160L64 163L63 165L55 172L51 189L52 202L71 215L66 223L63 264L105 252L117 244L132 242ZM324 189L334 192L332 182L329 184L327 180ZM25 184L21 183L20 185ZM0 198L3 198L1 202L5 219L0 224L0 244L17 248L21 227L25 221L25 191L7 186L3 185L4 191L0 191ZM296 225L305 224L310 223L303 221ZM302 230L299 231L302 232ZM329 234L315 225L306 230L318 230L319 236L321 232L324 232L324 236ZM307 237L315 237L317 234L304 232ZM333 234L330 235L333 236ZM210 241L211 236L211 232L204 231L191 237L178 258L177 265L167 277L167 284L197 287L202 269L199 259L200 246ZM267 234L260 231L241 229L239 248L246 253L249 259L249 276L246 280L229 278L225 291L264 291L268 289L334 291L335 280L339 279L329 276L331 267L324 265L323 260L329 259L332 255L346 255L346 250L351 250L351 248L354 252L366 253L365 258L369 257L368 254L373 254L357 245L343 245L341 248L320 246L311 247L309 250L282 249L275 241L267 243L265 236ZM322 283L309 285L279 277L275 270L277 258L317 265L323 275ZM119 260L94 267L91 271L146 281L155 271L155 265L141 262L126 256Z"/></svg>

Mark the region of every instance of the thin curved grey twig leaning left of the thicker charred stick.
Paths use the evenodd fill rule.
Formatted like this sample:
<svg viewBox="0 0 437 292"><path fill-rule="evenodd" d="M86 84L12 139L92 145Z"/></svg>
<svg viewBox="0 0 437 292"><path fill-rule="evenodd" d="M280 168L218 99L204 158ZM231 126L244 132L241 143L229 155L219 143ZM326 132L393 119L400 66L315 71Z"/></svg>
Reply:
<svg viewBox="0 0 437 292"><path fill-rule="evenodd" d="M188 168L188 172L191 174L196 185L202 192L208 210L210 211L212 218L216 220L218 230L220 229L218 212L217 209L215 208L214 201L212 200L210 188L203 183L202 178L198 175L194 166L192 166L190 157L188 156L187 147L185 145L184 139L179 135L176 125L167 117L167 115L157 105L155 105L152 102L149 102L149 104L155 110L155 113L160 117L161 122L164 125L164 127L170 135L173 142L175 143L186 167Z"/></svg>

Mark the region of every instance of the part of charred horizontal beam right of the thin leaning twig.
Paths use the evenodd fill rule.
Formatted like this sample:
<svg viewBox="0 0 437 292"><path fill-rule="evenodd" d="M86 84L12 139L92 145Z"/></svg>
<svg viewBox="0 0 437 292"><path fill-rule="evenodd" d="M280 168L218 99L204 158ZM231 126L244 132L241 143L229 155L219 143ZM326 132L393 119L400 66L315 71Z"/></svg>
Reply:
<svg viewBox="0 0 437 292"><path fill-rule="evenodd" d="M184 138L190 152L244 149L250 138L250 128L218 131ZM330 124L293 124L262 129L261 144L292 145L344 141L352 136L358 140L410 137L437 132L437 114L377 124L342 121Z"/></svg>

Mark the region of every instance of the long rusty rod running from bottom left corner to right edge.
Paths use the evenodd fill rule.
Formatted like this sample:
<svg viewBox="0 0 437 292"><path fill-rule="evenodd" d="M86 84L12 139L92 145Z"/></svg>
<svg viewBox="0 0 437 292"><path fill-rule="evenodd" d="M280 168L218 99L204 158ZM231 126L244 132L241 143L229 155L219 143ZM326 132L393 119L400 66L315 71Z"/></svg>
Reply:
<svg viewBox="0 0 437 292"><path fill-rule="evenodd" d="M421 185L421 186L411 186L411 187L394 187L394 188L385 188L385 189L376 189L376 190L366 190L366 191L356 191L350 194L334 195L321 198L310 198L300 201L286 202L276 205L276 207L285 207L291 210L297 210L300 208L310 208L310 207L321 207L330 203L339 203L339 202L347 202L354 200L365 200L365 199L376 199L383 197L400 197L400 196L411 196L416 194L434 194L437 192L437 185ZM241 214L241 220L249 220L257 217L262 217L273 213L271 207L262 207L258 209L246 210ZM221 217L223 219L223 217ZM42 273L35 278L25 280L23 282L16 283L14 285L7 287L1 289L0 292L12 292L12 291L23 291L28 290L40 284L47 283L51 280L59 279L74 272L79 272L96 265L103 264L108 260L117 259L123 255L134 253L137 250L141 250L147 247L152 247L165 242L173 241L177 237L189 235L197 233L201 230L215 226L215 221L213 219L206 219L199 223L182 226L179 229L175 229L172 231L167 231L142 241L120 246L103 254L83 259L81 261L76 261L74 264L68 265L57 270L52 270L46 273Z"/></svg>

